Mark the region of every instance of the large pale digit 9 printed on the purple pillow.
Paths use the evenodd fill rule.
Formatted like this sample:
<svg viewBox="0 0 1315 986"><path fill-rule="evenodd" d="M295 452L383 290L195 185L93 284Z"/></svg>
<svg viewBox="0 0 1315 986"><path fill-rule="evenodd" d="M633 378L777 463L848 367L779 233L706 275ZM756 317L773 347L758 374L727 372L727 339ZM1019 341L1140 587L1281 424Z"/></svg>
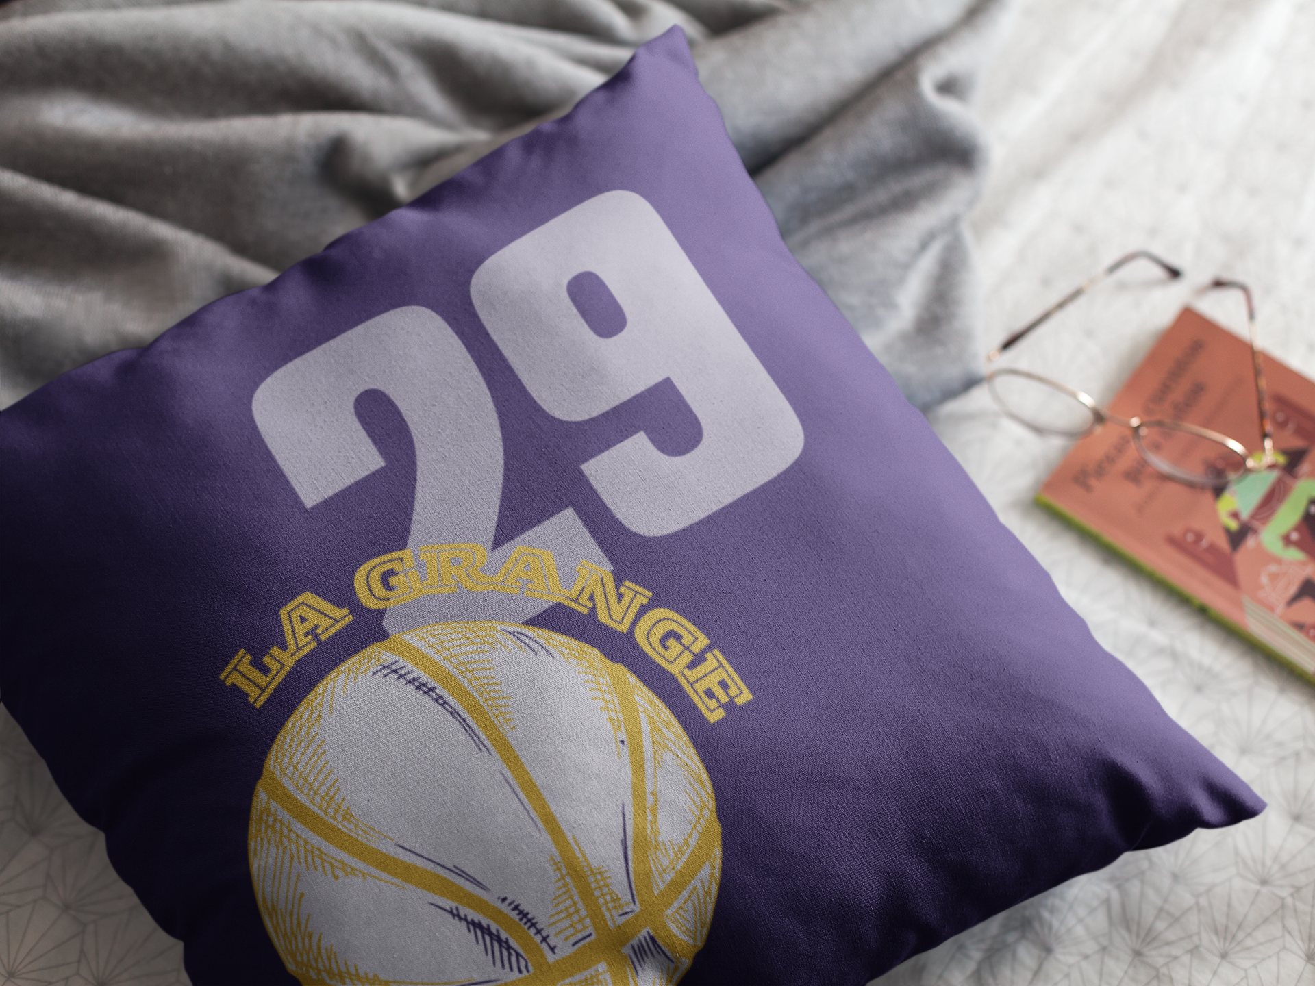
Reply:
<svg viewBox="0 0 1315 986"><path fill-rule="evenodd" d="M602 279L625 329L596 334L567 284ZM658 212L633 192L606 192L490 256L471 297L534 398L584 421L671 377L698 415L692 452L663 455L634 435L581 468L630 530L672 534L781 473L803 429L776 383L713 297Z"/></svg>

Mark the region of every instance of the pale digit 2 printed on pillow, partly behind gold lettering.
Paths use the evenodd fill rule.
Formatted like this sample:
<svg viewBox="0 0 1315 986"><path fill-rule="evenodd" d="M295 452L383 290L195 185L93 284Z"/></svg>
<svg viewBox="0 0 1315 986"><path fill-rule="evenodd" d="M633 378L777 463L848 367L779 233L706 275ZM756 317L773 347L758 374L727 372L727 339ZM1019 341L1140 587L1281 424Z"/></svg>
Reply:
<svg viewBox="0 0 1315 986"><path fill-rule="evenodd" d="M502 431L493 398L462 340L426 308L398 308L299 356L255 392L266 444L306 507L384 465L356 421L363 390L388 394L416 443L409 546L493 544L502 497ZM490 552L497 571L514 544L611 568L573 510ZM551 603L504 593L431 596L388 610L391 634L452 619L525 622Z"/></svg>

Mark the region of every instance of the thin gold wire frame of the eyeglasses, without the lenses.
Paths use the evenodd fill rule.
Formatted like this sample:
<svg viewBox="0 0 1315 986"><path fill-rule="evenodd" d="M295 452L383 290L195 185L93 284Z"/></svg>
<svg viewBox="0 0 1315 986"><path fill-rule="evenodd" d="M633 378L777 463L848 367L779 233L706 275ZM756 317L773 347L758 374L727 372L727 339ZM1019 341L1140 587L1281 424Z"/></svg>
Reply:
<svg viewBox="0 0 1315 986"><path fill-rule="evenodd" d="M1057 302L1051 305L1045 312L1034 318L1031 322L1024 325L1018 331L1010 334L998 347L986 354L986 363L990 365L998 360L1005 351L1011 348L1023 340L1024 337L1040 327L1047 319L1061 312L1063 309L1072 305L1080 297L1091 291L1095 285L1103 281L1110 275L1115 273L1119 268L1134 260L1149 260L1156 264L1164 273L1168 275L1169 280L1177 280L1182 276L1182 271L1173 264L1162 260L1148 250L1135 250L1131 254L1124 254L1118 260L1111 263L1109 267L1102 270L1095 276L1090 277L1088 281L1065 294ZM1106 408L1099 406L1090 394L1077 390L1066 384L1061 384L1057 380L1052 380L1048 376L1040 373L1034 373L1027 369L1014 369L1014 368L998 368L992 369L986 373L986 387L990 392L992 400L995 401L997 406L1005 411L1010 418L1018 421L1032 431L1039 431L1041 434L1063 435L1065 438L1086 438L1095 431L1105 427L1106 423L1118 425L1120 427L1130 429L1132 431L1132 443L1137 450L1137 454L1151 465L1156 472L1165 476L1166 479L1174 480L1177 482L1186 484L1189 486L1212 488L1220 486L1224 482L1237 479L1243 473L1248 472L1262 472L1265 469L1273 468L1281 464L1281 459L1274 452L1274 430L1269 414L1269 394L1265 388L1265 369L1261 365L1260 347L1256 343L1256 308L1252 302L1251 288L1248 288L1241 281L1227 280L1223 277L1215 277L1214 281L1205 291L1214 291L1219 288L1232 288L1243 293L1247 300L1247 329L1248 338L1251 342L1251 359L1252 368L1256 375L1256 410L1260 415L1260 433L1261 433L1261 447L1256 451L1248 451L1247 447L1237 442L1236 439L1223 435L1218 431L1212 431L1198 425L1191 425L1184 421L1147 421L1140 417L1120 418L1118 414L1111 414ZM1047 426L1035 419L1028 419L1019 414L1015 409L1009 406L1009 402L999 393L999 383L1007 377L1020 377L1024 380L1031 380L1036 384L1044 385L1051 390L1060 394L1070 397L1072 400L1081 404L1086 411L1090 414L1091 423L1085 429L1073 430L1060 426ZM1236 456L1240 464L1226 468L1222 472L1208 472L1208 473L1195 473L1180 468L1174 463L1160 458L1155 451L1147 447L1148 436L1156 430L1178 431L1187 435L1193 435L1206 442L1212 442Z"/></svg>

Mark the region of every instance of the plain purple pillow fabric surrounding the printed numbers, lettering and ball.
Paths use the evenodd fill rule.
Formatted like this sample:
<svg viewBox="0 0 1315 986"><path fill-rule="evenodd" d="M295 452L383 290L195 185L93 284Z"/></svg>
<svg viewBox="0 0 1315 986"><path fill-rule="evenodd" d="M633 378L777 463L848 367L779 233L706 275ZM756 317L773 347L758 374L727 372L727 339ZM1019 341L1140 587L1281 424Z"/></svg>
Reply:
<svg viewBox="0 0 1315 986"><path fill-rule="evenodd" d="M617 189L656 209L803 431L784 472L664 536L627 528L579 467L639 433L692 451L679 388L555 418L471 297L489 256ZM617 334L598 283L571 294ZM709 723L593 617L529 621L627 667L707 769L721 889L684 982L860 983L1122 852L1261 810L1093 640L793 260L669 33L568 117L0 414L0 694L199 986L291 982L252 894L252 790L310 689L388 636L352 578L408 543L417 482L405 422L368 390L385 468L306 509L252 396L404 306L438 313L492 390L496 544L573 509L617 581L694 621L753 692ZM256 710L217 676L305 590L354 619Z"/></svg>

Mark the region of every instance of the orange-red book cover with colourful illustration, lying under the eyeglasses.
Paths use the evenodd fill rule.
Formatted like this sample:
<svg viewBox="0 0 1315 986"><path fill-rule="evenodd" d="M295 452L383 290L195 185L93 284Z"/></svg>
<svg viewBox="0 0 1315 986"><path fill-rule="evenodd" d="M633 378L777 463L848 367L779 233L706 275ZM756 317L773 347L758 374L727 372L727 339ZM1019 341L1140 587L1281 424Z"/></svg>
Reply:
<svg viewBox="0 0 1315 986"><path fill-rule="evenodd" d="M1165 479L1112 423L1081 439L1036 502L1315 681L1315 383L1262 356L1283 465L1199 489ZM1109 410L1260 448L1251 347L1186 309Z"/></svg>

